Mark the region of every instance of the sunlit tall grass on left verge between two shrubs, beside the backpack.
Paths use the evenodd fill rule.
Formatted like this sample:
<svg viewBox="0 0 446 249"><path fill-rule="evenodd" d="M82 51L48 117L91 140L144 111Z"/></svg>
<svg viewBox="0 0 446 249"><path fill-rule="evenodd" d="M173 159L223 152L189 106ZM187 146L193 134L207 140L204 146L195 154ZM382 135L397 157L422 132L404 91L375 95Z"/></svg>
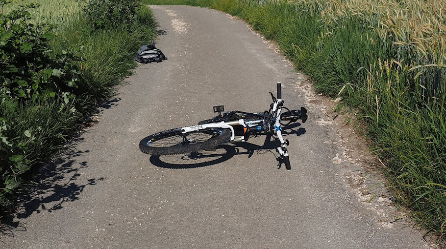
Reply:
<svg viewBox="0 0 446 249"><path fill-rule="evenodd" d="M87 96L108 98L111 86L131 74L136 65L133 54L144 43L156 36L156 22L150 9L144 6L138 11L138 23L133 26L115 27L93 32L82 18L74 18L53 42L54 51L62 51L71 45L82 46L79 69L82 77L80 88Z"/></svg>

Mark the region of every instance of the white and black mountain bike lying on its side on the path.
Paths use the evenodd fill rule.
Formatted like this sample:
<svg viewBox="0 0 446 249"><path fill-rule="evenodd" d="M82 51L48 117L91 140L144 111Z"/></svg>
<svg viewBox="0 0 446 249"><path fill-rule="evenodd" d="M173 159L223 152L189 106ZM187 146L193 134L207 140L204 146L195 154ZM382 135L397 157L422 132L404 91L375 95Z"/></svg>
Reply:
<svg viewBox="0 0 446 249"><path fill-rule="evenodd" d="M286 146L288 140L282 137L281 126L301 120L307 120L307 110L290 110L283 106L281 83L277 83L277 98L273 96L273 103L268 111L251 113L243 111L224 112L223 105L214 106L214 112L219 115L208 120L198 122L198 125L174 128L152 134L139 143L139 148L146 154L153 156L193 153L213 148L229 142L246 142L249 136L270 134L277 145L280 154L279 165L283 162L287 170L291 169ZM282 110L286 111L282 113ZM274 136L275 135L275 136Z"/></svg>

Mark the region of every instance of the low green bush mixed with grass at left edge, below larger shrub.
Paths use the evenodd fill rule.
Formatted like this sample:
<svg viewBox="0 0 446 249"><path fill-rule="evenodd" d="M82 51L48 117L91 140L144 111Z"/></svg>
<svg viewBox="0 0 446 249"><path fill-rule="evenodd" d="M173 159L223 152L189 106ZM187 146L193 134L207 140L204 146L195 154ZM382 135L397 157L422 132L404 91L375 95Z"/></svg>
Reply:
<svg viewBox="0 0 446 249"><path fill-rule="evenodd" d="M0 210L12 207L10 200L28 183L32 166L47 163L67 141L82 117L73 107L58 99L0 104Z"/></svg>

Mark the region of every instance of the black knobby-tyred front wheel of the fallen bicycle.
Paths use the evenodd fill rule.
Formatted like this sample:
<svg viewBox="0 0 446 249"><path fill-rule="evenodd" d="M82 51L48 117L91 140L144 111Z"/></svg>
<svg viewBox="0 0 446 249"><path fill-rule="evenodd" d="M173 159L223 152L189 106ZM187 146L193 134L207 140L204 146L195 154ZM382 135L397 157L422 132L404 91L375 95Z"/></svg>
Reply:
<svg viewBox="0 0 446 249"><path fill-rule="evenodd" d="M206 128L183 134L181 128L175 128L144 138L139 149L154 156L191 153L229 142L231 135L230 129Z"/></svg>

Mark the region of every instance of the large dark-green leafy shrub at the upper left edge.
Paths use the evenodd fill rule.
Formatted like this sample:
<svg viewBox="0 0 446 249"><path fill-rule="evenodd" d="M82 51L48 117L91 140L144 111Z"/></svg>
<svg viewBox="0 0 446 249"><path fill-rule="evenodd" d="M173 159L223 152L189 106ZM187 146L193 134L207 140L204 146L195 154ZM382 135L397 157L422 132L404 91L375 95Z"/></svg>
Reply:
<svg viewBox="0 0 446 249"><path fill-rule="evenodd" d="M0 0L4 6L8 0ZM48 24L29 20L27 4L7 14L0 13L0 100L35 101L39 96L58 97L68 103L78 82L73 50L51 56L55 38Z"/></svg>

